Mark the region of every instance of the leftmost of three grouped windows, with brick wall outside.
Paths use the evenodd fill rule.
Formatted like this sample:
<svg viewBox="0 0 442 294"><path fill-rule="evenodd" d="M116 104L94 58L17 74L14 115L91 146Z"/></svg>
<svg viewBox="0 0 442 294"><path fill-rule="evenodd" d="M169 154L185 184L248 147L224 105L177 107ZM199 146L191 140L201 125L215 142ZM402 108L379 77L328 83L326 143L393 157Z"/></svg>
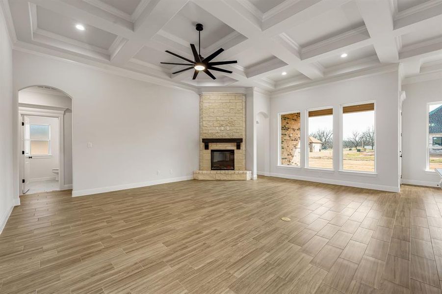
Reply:
<svg viewBox="0 0 442 294"><path fill-rule="evenodd" d="M301 114L281 115L281 164L301 165Z"/></svg>

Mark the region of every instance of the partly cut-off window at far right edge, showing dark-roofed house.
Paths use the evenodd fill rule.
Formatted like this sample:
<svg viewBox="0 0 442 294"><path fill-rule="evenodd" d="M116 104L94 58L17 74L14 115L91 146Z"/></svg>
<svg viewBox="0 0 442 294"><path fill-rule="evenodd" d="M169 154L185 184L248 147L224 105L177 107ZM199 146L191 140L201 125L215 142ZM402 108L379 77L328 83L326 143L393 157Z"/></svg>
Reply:
<svg viewBox="0 0 442 294"><path fill-rule="evenodd" d="M434 171L442 168L442 102L429 103L427 169Z"/></svg>

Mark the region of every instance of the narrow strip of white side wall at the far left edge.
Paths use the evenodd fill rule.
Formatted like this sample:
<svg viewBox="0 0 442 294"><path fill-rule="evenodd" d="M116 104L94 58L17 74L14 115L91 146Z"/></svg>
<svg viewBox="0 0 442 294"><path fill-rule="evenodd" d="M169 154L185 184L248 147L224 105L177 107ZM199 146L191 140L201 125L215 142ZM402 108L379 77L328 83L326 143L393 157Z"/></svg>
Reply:
<svg viewBox="0 0 442 294"><path fill-rule="evenodd" d="M0 4L0 233L14 205L12 43Z"/></svg>

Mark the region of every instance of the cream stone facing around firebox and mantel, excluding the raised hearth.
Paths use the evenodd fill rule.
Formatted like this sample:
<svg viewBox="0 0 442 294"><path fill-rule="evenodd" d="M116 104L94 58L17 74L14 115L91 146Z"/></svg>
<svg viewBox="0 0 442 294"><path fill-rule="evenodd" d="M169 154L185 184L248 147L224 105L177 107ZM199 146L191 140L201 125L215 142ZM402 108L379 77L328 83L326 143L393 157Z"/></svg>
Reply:
<svg viewBox="0 0 442 294"><path fill-rule="evenodd" d="M242 138L241 149L235 143L210 143L204 149L203 138ZM246 112L245 95L206 93L200 95L200 170L210 171L211 149L234 149L235 171L245 170Z"/></svg>

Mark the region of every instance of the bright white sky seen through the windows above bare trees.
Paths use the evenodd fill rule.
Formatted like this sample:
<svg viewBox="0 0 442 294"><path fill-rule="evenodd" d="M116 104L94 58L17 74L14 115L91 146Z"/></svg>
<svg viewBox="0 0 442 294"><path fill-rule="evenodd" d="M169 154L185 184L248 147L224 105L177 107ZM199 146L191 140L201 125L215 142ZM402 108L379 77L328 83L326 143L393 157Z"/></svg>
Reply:
<svg viewBox="0 0 442 294"><path fill-rule="evenodd" d="M431 106L432 105L430 105L430 107ZM362 133L372 125L374 125L374 111L345 113L342 116L343 138L346 139L350 137L353 130ZM333 116L327 115L309 118L309 134L323 128L333 128Z"/></svg>

